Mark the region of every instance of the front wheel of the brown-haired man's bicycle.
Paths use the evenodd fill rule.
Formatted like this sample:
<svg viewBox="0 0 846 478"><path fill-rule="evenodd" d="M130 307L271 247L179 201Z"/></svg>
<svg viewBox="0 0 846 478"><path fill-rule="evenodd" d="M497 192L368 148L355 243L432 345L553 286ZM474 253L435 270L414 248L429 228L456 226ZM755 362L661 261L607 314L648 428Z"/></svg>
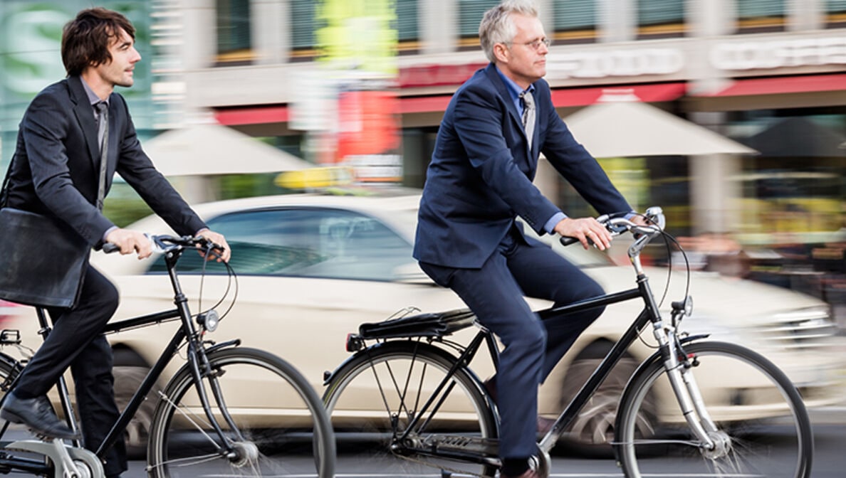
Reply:
<svg viewBox="0 0 846 478"><path fill-rule="evenodd" d="M220 435L186 366L164 388L153 415L147 450L151 476L332 477L332 426L320 398L294 367L265 351L240 347L207 356L211 373L202 388L233 453L222 454Z"/></svg>

